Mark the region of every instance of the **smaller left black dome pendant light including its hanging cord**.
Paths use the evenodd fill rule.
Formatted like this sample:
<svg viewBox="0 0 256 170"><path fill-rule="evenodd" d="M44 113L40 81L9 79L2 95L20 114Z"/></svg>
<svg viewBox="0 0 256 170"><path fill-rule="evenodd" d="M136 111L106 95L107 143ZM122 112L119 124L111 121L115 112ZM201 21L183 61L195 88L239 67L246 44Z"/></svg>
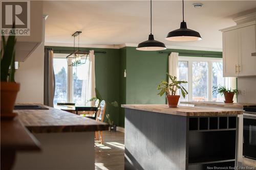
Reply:
<svg viewBox="0 0 256 170"><path fill-rule="evenodd" d="M148 40L143 41L138 44L136 50L140 51L160 51L165 50L166 47L164 43L154 39L152 34L152 0L150 1L150 35L148 35Z"/></svg>

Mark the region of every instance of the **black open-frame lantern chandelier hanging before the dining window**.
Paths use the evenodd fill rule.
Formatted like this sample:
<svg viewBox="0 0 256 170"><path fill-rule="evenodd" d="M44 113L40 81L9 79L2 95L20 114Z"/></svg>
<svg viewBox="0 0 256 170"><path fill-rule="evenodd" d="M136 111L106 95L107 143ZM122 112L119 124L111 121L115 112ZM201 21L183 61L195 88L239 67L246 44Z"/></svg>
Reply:
<svg viewBox="0 0 256 170"><path fill-rule="evenodd" d="M66 57L67 62L68 62L68 66L78 66L78 65L86 63L86 60L87 60L87 57L88 57L89 53L81 51L79 49L79 35L81 33L82 33L81 31L77 31L74 34L72 34L72 36L74 37L74 52ZM76 38L76 36L78 36L77 50L76 50L76 47L75 47L75 38Z"/></svg>

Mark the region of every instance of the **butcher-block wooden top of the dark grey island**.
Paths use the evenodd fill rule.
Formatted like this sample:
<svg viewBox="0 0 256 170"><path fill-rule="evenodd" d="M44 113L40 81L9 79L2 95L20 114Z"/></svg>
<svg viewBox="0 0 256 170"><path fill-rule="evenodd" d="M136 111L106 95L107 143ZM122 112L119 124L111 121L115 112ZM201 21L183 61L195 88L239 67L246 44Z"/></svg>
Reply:
<svg viewBox="0 0 256 170"><path fill-rule="evenodd" d="M243 114L242 110L189 106L178 106L178 108L168 108L167 105L122 105L121 107L157 113L174 114L180 116L220 116Z"/></svg>

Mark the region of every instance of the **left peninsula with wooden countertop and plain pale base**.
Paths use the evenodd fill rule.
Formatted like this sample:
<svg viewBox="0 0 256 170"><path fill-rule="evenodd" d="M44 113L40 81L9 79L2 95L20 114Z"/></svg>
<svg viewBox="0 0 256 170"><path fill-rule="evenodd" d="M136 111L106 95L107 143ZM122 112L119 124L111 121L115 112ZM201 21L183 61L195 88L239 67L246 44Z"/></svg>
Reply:
<svg viewBox="0 0 256 170"><path fill-rule="evenodd" d="M18 153L13 169L94 169L94 133L109 125L44 106L15 110L17 118L41 143L39 153Z"/></svg>

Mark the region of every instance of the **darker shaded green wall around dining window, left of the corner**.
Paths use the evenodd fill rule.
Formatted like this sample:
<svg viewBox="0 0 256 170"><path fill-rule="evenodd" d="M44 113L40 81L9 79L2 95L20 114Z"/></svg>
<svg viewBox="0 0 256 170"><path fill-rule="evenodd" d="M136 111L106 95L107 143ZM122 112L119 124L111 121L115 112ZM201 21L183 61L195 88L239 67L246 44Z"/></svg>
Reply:
<svg viewBox="0 0 256 170"><path fill-rule="evenodd" d="M73 47L45 46L53 48L54 53L67 53L73 51ZM83 51L94 50L95 52L104 51L106 54L95 53L95 77L96 88L102 98L107 102L119 101L119 49L111 48L80 48ZM119 126L119 107L106 106L106 114L110 114L114 123ZM106 121L106 119L105 119Z"/></svg>

